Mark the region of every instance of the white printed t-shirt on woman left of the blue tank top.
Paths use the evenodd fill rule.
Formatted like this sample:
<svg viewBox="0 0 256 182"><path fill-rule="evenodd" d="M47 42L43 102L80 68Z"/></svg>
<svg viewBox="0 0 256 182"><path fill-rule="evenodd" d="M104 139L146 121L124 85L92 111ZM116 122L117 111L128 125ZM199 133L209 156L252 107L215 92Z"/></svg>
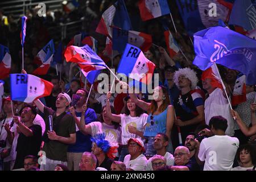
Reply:
<svg viewBox="0 0 256 182"><path fill-rule="evenodd" d="M127 144L130 138L141 138L138 135L130 133L128 126L134 126L137 130L143 132L144 126L147 124L146 113L143 113L140 117L131 117L131 115L120 114L121 117L121 129L122 129L122 144Z"/></svg>

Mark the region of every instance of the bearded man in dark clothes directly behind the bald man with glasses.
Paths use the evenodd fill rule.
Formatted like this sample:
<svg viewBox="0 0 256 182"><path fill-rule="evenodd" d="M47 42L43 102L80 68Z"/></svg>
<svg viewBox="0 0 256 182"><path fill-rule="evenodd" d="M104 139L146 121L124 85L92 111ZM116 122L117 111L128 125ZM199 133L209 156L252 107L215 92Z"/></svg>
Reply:
<svg viewBox="0 0 256 182"><path fill-rule="evenodd" d="M189 133L185 140L185 147L189 150L189 163L193 164L196 170L203 169L197 164L195 133Z"/></svg>

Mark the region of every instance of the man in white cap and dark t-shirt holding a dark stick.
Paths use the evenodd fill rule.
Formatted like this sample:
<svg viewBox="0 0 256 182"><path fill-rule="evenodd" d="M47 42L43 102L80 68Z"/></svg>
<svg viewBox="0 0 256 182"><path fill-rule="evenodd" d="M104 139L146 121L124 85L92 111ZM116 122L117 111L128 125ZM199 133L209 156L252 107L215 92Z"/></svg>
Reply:
<svg viewBox="0 0 256 182"><path fill-rule="evenodd" d="M40 158L43 162L40 169L54 171L57 164L67 166L68 144L76 142L75 121L71 114L66 113L67 107L71 104L71 98L67 93L60 93L56 100L56 111L44 106L39 100L35 100L34 103L44 113L46 122L46 131L43 135L44 153ZM52 131L50 131L51 127L48 122L49 115L52 115Z"/></svg>

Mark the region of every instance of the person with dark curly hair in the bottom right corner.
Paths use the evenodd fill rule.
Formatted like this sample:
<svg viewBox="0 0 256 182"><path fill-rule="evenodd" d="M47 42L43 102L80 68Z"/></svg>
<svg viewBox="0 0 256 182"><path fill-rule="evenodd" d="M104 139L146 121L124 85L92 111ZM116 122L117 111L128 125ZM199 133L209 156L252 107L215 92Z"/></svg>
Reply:
<svg viewBox="0 0 256 182"><path fill-rule="evenodd" d="M251 144L239 147L236 157L240 166L234 167L232 171L251 171L256 165L256 151Z"/></svg>

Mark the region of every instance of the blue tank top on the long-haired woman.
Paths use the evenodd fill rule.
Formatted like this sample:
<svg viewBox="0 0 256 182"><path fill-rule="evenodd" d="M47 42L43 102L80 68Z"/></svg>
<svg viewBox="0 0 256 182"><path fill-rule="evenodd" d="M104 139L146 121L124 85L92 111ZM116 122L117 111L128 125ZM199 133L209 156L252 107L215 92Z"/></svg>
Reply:
<svg viewBox="0 0 256 182"><path fill-rule="evenodd" d="M158 133L166 133L167 109L158 115L148 115L144 137L155 137Z"/></svg>

